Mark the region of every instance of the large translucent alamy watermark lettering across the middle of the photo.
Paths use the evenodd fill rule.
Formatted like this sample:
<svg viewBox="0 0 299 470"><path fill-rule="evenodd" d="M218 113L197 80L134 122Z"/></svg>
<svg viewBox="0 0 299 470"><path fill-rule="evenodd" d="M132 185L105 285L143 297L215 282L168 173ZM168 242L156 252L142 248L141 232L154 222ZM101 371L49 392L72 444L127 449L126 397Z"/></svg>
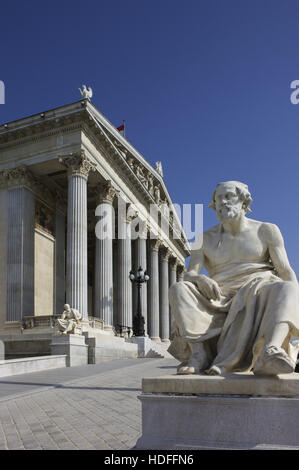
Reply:
<svg viewBox="0 0 299 470"><path fill-rule="evenodd" d="M117 210L108 202L99 204L95 209L95 216L99 217L95 225L96 237L99 240L136 240L147 237L149 231L150 239L184 239L191 250L202 247L203 204L162 204L160 207L151 204L147 219L141 215L143 212L142 204L128 207L121 197L117 198Z"/></svg>

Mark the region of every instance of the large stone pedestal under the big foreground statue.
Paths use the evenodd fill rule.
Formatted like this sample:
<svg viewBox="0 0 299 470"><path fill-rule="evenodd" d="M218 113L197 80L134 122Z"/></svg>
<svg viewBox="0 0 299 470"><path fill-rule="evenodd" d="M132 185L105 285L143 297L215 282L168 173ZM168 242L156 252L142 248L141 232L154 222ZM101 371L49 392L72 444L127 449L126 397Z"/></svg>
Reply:
<svg viewBox="0 0 299 470"><path fill-rule="evenodd" d="M299 449L299 374L145 378L142 391L137 449Z"/></svg>

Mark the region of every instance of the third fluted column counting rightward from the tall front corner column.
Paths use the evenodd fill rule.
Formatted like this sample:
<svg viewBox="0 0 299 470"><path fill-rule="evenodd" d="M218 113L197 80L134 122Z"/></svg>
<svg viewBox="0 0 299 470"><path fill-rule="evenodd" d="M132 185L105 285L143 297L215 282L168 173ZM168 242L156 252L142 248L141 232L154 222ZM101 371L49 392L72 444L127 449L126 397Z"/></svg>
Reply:
<svg viewBox="0 0 299 470"><path fill-rule="evenodd" d="M132 283L130 271L132 269L131 227L136 212L124 204L124 210L118 206L118 323L125 327L132 327Z"/></svg>

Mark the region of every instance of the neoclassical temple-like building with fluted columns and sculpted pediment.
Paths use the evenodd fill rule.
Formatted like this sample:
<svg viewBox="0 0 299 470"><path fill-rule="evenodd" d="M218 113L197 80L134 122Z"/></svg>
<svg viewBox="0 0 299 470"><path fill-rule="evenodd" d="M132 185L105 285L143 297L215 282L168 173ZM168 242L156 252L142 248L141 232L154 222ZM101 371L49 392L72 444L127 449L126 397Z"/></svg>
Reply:
<svg viewBox="0 0 299 470"><path fill-rule="evenodd" d="M0 126L0 219L1 337L48 331L65 303L87 329L130 330L142 266L146 335L169 339L188 241L160 166L88 99Z"/></svg>

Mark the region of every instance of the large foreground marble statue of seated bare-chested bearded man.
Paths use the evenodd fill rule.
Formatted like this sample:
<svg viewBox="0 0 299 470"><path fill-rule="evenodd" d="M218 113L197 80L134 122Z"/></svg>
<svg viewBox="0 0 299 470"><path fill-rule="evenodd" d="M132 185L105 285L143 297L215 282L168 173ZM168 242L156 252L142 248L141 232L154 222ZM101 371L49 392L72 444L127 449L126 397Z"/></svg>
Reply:
<svg viewBox="0 0 299 470"><path fill-rule="evenodd" d="M178 374L295 370L298 281L278 227L245 216L251 202L247 185L217 185L209 207L220 223L191 251L184 281L170 287Z"/></svg>

